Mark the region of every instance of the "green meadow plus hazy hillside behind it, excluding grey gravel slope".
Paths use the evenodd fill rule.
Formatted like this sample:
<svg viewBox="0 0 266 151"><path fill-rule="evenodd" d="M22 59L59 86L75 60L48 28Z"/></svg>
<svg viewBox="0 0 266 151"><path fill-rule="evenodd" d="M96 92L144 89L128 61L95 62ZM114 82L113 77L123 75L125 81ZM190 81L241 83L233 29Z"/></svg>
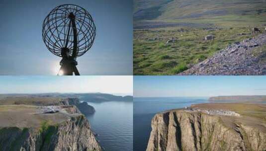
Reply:
<svg viewBox="0 0 266 151"><path fill-rule="evenodd" d="M134 75L176 75L265 26L261 0L134 0Z"/></svg>

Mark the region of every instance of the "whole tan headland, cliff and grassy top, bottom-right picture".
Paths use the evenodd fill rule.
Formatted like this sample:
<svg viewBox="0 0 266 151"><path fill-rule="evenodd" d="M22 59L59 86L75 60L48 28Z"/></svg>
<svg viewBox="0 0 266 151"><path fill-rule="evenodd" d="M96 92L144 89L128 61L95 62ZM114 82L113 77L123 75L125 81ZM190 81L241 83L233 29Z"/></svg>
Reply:
<svg viewBox="0 0 266 151"><path fill-rule="evenodd" d="M266 150L266 105L207 103L191 108L156 114L146 151ZM240 116L204 112L220 109Z"/></svg>

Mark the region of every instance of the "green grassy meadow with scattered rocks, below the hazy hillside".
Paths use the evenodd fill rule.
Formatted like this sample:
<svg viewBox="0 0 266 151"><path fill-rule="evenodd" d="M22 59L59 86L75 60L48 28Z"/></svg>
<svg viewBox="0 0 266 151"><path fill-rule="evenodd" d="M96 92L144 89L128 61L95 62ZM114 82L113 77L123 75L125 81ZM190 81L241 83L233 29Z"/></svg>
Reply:
<svg viewBox="0 0 266 151"><path fill-rule="evenodd" d="M251 33L250 27L221 28L211 31L183 27L185 32L179 32L177 29L179 27L134 31L134 75L175 75L234 42L257 35L240 35ZM209 34L215 36L214 41L203 40ZM162 39L148 40L156 36ZM172 37L177 37L177 41L167 45L167 40Z"/></svg>

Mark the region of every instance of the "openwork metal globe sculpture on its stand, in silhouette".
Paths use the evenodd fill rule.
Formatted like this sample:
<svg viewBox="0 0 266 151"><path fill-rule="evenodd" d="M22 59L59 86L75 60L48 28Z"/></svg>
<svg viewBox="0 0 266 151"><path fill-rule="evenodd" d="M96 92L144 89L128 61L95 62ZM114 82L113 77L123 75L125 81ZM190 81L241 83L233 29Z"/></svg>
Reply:
<svg viewBox="0 0 266 151"><path fill-rule="evenodd" d="M77 57L91 48L96 28L89 12L75 4L55 7L44 19L42 38L48 50L58 57L61 75L80 75Z"/></svg>

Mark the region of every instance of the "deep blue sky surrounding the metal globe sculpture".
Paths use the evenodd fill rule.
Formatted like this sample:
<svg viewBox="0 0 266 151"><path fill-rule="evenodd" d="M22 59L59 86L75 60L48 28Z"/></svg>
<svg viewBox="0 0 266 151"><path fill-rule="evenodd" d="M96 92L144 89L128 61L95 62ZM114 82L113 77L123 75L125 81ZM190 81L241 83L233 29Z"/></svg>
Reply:
<svg viewBox="0 0 266 151"><path fill-rule="evenodd" d="M66 3L87 9L97 29L80 74L132 75L132 0L0 0L0 75L57 74L61 58L45 47L42 23Z"/></svg>

